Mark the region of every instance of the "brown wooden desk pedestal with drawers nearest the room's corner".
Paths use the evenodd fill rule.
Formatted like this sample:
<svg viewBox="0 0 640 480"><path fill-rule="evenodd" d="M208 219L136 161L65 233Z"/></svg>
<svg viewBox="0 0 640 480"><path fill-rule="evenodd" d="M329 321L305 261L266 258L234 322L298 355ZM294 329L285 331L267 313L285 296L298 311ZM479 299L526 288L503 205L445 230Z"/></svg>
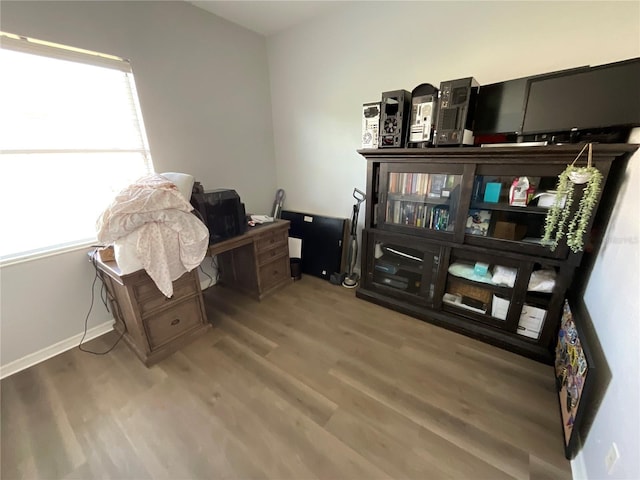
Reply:
<svg viewBox="0 0 640 480"><path fill-rule="evenodd" d="M261 300L291 283L289 221L265 223L237 237L209 246L208 255L218 256L224 285Z"/></svg>

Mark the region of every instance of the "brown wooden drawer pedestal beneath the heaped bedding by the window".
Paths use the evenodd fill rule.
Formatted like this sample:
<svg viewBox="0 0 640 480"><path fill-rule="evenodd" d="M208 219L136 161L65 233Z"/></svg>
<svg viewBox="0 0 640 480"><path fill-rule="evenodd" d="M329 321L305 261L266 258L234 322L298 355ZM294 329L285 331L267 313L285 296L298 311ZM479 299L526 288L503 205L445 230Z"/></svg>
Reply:
<svg viewBox="0 0 640 480"><path fill-rule="evenodd" d="M144 270L122 275L115 262L96 259L106 285L115 329L135 354L150 366L204 333L207 321L197 270L173 282L165 297Z"/></svg>

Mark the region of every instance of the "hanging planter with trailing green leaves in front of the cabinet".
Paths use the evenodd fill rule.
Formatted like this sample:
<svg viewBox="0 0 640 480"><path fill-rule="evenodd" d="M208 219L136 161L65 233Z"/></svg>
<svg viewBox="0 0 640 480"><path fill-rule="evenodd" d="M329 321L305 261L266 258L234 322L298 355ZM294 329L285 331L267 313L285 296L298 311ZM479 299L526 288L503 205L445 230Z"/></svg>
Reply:
<svg viewBox="0 0 640 480"><path fill-rule="evenodd" d="M577 166L576 161L587 148L589 148L587 166ZM584 248L584 235L602 188L602 173L593 166L592 150L592 144L586 144L575 160L558 176L555 200L547 212L542 238L542 243L549 246L552 251L556 249L562 237L566 237L567 245L574 253ZM580 204L572 216L571 207L576 185L584 185L584 187Z"/></svg>

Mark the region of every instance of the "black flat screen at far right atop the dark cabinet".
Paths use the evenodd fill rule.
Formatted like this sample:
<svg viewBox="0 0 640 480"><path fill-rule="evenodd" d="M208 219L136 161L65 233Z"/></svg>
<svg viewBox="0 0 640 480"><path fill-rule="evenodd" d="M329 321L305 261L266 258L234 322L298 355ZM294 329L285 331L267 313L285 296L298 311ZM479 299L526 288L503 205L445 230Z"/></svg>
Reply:
<svg viewBox="0 0 640 480"><path fill-rule="evenodd" d="M522 133L640 126L640 58L532 79Z"/></svg>

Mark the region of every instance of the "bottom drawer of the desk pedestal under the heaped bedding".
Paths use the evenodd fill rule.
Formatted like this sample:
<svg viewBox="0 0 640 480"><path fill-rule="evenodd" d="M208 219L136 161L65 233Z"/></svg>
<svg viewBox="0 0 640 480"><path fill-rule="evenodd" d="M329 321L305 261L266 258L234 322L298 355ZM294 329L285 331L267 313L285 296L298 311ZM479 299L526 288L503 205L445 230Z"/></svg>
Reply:
<svg viewBox="0 0 640 480"><path fill-rule="evenodd" d="M151 350L202 324L199 297L183 300L157 315L144 319Z"/></svg>

